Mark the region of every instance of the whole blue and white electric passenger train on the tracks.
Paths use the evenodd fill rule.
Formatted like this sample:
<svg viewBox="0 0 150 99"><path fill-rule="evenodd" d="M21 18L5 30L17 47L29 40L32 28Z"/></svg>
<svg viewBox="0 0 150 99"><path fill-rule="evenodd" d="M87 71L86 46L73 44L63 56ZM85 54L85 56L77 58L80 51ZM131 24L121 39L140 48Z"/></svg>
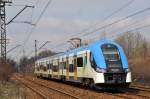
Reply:
<svg viewBox="0 0 150 99"><path fill-rule="evenodd" d="M123 48L99 40L35 62L35 75L95 87L129 87L131 71Z"/></svg>

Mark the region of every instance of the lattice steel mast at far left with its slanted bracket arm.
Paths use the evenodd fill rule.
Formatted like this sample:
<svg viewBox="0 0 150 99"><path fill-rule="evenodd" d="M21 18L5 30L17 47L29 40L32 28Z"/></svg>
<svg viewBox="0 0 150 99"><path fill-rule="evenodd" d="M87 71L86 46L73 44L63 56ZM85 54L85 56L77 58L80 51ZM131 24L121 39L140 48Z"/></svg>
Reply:
<svg viewBox="0 0 150 99"><path fill-rule="evenodd" d="M6 23L6 12L5 12L5 6L6 4L12 3L12 0L0 0L0 32L1 32L1 57L0 57L0 63L6 63L6 44L7 44L7 38L6 38L6 25L13 22L13 20L20 15L26 8L31 7L34 8L34 6L25 6L17 15L15 15L8 23Z"/></svg>

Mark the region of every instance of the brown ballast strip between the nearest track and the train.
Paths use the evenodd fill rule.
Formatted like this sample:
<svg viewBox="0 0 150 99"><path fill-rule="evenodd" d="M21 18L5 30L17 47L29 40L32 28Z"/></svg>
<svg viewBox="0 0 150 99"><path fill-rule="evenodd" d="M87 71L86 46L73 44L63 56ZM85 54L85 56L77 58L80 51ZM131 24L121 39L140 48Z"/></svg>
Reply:
<svg viewBox="0 0 150 99"><path fill-rule="evenodd" d="M21 75L19 75L19 76L21 76ZM41 79L37 79L37 78L34 78L34 77L29 77L29 76L28 77L22 77L22 78L28 79L29 81L34 81L35 83L40 83L40 84L42 84L42 86L46 86L48 88L50 86L55 86L55 85L49 84L50 82L52 83L54 81L41 80ZM70 93L73 92L74 94L76 94L76 96L78 96L78 99L105 99L106 97L109 97L109 99L111 99L111 97L112 97L112 99L114 99L114 98L117 98L117 99L119 98L120 99L120 97L118 97L118 96L106 94L106 93L103 93L103 92L98 93L98 92L95 92L95 91L92 91L92 90L89 90L89 89L81 88L80 86L77 87L77 86L72 86L70 84L66 85L66 84L60 83L60 82L54 82L54 83L55 84L57 83L57 85L60 85L60 86L63 84L64 87L65 86L70 86L71 90L70 90L70 88L68 89L68 87L67 87L67 90ZM57 86L57 87L60 88L63 91L66 91L66 88L63 89L62 87L59 87L59 86ZM123 99L123 98L121 97L121 99Z"/></svg>

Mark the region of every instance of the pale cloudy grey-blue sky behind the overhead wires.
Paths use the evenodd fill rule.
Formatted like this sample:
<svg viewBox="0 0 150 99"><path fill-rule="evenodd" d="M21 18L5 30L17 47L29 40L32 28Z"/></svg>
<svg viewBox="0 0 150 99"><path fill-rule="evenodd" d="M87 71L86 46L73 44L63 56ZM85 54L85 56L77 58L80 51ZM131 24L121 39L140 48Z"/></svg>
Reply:
<svg viewBox="0 0 150 99"><path fill-rule="evenodd" d="M150 24L150 10L148 10L91 33L97 28L150 7L150 0L52 0L36 25L34 24L49 0L12 0L12 2L12 6L6 7L7 22L25 5L34 6L25 9L7 26L7 37L10 39L7 49L22 45L8 53L8 57L15 60L19 60L23 55L33 56L35 40L38 47L50 41L42 50L62 52L68 49L70 45L67 41L73 37L96 41L106 33L107 39L113 39L118 34ZM21 23L22 21L32 24ZM150 27L135 32L141 32L150 39L149 30Z"/></svg>

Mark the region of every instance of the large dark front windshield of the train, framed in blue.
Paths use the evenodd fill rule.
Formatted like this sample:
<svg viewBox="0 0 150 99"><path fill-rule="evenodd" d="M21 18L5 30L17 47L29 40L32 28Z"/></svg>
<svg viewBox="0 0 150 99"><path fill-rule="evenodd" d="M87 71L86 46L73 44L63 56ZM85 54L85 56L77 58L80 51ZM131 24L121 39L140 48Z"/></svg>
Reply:
<svg viewBox="0 0 150 99"><path fill-rule="evenodd" d="M102 52L108 67L121 67L122 62L118 48L112 44L102 45Z"/></svg>

